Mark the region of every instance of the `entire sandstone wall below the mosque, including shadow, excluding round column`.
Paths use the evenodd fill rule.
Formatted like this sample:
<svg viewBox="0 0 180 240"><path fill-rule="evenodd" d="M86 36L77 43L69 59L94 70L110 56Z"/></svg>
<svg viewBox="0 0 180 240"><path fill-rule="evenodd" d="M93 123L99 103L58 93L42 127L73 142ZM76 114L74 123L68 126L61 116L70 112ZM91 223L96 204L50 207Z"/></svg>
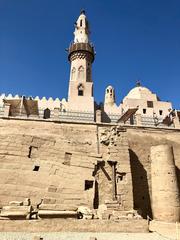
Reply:
<svg viewBox="0 0 180 240"><path fill-rule="evenodd" d="M172 145L180 177L180 132L129 127L113 133L109 145L102 142L107 131L114 130L107 124L1 119L0 205L31 198L34 205L43 199L42 209L98 207L113 198L110 160L119 174L115 191L121 210L134 205L143 217L152 216L150 147ZM105 171L97 169L99 163Z"/></svg>

